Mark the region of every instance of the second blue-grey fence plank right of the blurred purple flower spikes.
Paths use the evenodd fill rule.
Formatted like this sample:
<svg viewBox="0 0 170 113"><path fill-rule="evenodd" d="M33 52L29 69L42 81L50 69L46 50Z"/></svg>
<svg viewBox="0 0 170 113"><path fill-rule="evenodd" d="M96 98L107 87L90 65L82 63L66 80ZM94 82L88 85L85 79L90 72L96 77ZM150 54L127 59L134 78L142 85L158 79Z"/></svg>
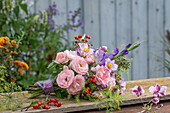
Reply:
<svg viewBox="0 0 170 113"><path fill-rule="evenodd" d="M112 51L116 47L116 0L100 1L101 45L107 46Z"/></svg>

